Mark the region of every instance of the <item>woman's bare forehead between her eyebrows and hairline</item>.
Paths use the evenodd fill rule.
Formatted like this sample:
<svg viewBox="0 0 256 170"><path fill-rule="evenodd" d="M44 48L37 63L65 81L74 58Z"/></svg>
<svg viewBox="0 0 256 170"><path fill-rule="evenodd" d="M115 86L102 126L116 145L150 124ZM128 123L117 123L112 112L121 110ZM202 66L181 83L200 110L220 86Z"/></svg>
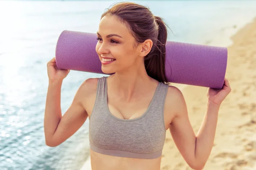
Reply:
<svg viewBox="0 0 256 170"><path fill-rule="evenodd" d="M122 37L128 37L129 31L125 24L121 23L117 17L105 16L99 23L99 34L107 36L108 34L118 34Z"/></svg>

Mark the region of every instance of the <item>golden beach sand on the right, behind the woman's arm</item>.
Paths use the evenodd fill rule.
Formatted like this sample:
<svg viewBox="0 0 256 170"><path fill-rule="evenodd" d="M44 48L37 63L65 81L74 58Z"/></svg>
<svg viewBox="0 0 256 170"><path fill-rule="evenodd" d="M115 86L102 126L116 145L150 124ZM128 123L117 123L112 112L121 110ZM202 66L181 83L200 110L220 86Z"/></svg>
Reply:
<svg viewBox="0 0 256 170"><path fill-rule="evenodd" d="M256 170L256 19L231 38L226 78L232 91L221 104L214 146L204 170ZM182 92L197 134L206 111L207 88L190 85ZM161 170L192 170L169 130Z"/></svg>

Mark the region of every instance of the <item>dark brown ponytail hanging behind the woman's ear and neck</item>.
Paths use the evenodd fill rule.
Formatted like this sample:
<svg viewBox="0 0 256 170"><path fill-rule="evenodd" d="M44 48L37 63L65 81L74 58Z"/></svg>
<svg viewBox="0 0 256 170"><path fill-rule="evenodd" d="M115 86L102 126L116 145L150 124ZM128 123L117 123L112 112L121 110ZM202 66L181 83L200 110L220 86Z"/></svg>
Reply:
<svg viewBox="0 0 256 170"><path fill-rule="evenodd" d="M148 56L145 57L144 65L148 76L156 79L159 82L166 84L168 80L165 74L165 58L166 58L166 41L167 41L167 29L166 24L160 17L154 16L154 19L158 26L158 35L156 43Z"/></svg>

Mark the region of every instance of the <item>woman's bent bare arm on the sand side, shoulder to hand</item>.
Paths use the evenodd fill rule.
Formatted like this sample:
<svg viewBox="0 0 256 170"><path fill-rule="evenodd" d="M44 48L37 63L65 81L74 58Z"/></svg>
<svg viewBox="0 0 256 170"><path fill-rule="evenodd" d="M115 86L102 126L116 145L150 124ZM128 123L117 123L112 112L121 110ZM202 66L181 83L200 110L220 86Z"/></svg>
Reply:
<svg viewBox="0 0 256 170"><path fill-rule="evenodd" d="M176 96L175 108L170 109L175 112L175 118L172 119L169 129L181 155L187 164L195 170L202 170L209 158L215 138L218 111L221 102L230 91L231 88L227 79L224 80L222 89L208 89L207 111L198 134L195 136L189 121L185 99L177 88L174 91L172 90L172 95Z"/></svg>

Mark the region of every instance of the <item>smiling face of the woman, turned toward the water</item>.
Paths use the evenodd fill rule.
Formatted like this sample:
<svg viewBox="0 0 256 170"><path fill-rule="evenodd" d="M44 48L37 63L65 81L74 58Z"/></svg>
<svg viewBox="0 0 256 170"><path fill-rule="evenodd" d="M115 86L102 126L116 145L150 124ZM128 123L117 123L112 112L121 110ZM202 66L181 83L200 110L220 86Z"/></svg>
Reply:
<svg viewBox="0 0 256 170"><path fill-rule="evenodd" d="M126 71L134 65L143 64L139 46L125 24L117 17L105 16L99 23L96 52L105 74Z"/></svg>

